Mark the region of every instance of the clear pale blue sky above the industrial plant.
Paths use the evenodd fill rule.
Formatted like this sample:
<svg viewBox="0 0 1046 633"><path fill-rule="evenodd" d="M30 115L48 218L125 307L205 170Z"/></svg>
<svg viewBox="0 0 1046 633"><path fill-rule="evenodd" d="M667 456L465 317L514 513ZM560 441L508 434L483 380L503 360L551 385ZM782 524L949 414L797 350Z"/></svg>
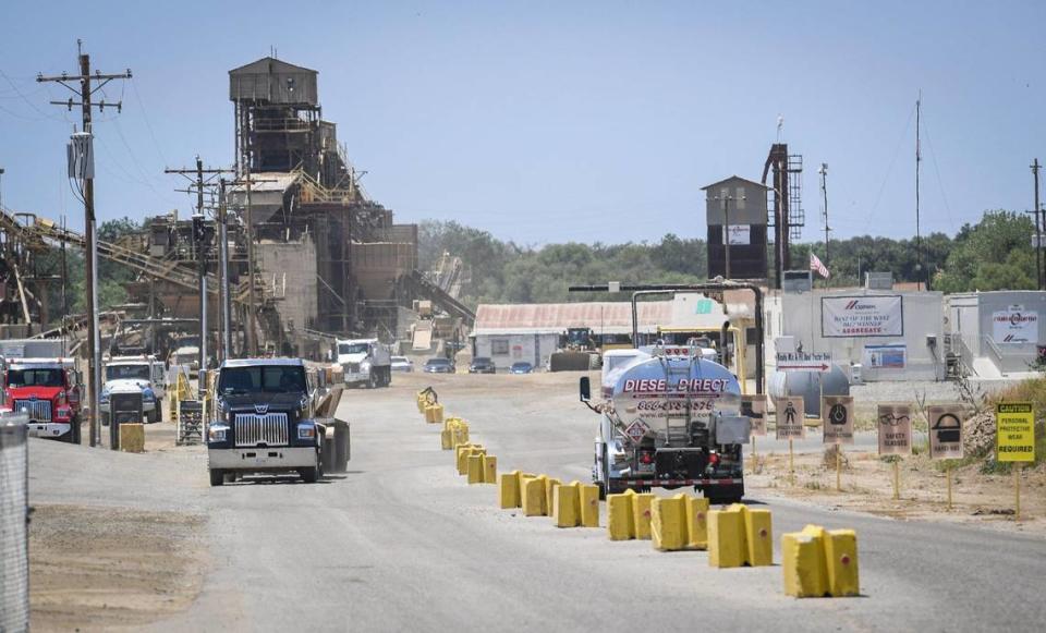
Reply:
<svg viewBox="0 0 1046 633"><path fill-rule="evenodd" d="M84 10L87 7L87 10ZM805 240L829 165L840 236L1032 207L1046 159L1044 2L4 2L4 206L82 224L65 179L78 113L37 72L131 68L97 118L101 219L192 199L165 175L233 158L228 71L269 53L319 71L363 183L400 222L455 219L525 244L704 236L701 187L758 180L777 118L805 159Z"/></svg>

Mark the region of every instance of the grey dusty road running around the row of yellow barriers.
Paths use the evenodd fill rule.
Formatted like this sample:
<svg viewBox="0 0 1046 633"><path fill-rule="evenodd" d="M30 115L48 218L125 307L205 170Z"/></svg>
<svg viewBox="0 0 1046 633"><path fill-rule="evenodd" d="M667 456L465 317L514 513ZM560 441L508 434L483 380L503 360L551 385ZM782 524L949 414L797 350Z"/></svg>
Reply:
<svg viewBox="0 0 1046 633"><path fill-rule="evenodd" d="M782 594L780 567L714 570L704 552L656 552L648 541L611 543L604 529L557 529L498 510L492 486L470 487L457 475L413 400L419 386L435 385L502 471L585 480L595 421L576 403L575 379L397 376L391 389L351 391L340 410L353 425L350 472L316 485L209 488L204 453L192 449L106 453L118 459L90 460L106 462L104 477L62 489L49 460L88 451L34 442L33 499L204 518L193 555L205 570L199 593L178 613L154 612L161 631L606 632L701 622L1035 631L1046 621L1033 580L1046 576L1041 537L823 509L754 489L751 500L774 512L775 540L811 522L858 531L865 597L795 600Z"/></svg>

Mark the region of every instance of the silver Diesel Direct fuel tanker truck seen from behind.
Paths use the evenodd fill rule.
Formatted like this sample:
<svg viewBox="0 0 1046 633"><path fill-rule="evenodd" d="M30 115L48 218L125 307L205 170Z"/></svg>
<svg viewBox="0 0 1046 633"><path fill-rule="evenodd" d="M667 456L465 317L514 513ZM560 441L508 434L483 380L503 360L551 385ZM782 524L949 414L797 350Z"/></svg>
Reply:
<svg viewBox="0 0 1046 633"><path fill-rule="evenodd" d="M741 386L702 350L666 354L655 346L603 378L593 480L600 494L693 486L713 503L744 496L741 449L751 422L740 414Z"/></svg>

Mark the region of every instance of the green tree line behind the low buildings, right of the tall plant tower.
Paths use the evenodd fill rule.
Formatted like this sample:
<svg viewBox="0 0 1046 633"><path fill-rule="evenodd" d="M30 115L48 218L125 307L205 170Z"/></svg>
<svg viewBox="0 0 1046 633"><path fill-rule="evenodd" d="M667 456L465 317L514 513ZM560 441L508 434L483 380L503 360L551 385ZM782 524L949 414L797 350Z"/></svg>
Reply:
<svg viewBox="0 0 1046 633"><path fill-rule="evenodd" d="M921 240L860 235L830 240L826 264L832 285L859 285L869 271L892 272L895 281L927 282L931 290L1034 290L1034 222L1025 214L986 211L954 236L931 233ZM455 221L425 221L418 232L423 270L446 252L461 257L471 273L462 300L479 303L593 301L568 287L584 283L696 283L707 280L707 244L667 233L658 242L526 246ZM921 251L921 256L920 256ZM793 269L805 269L810 253L826 259L825 243L792 244ZM770 248L770 269L774 268Z"/></svg>

